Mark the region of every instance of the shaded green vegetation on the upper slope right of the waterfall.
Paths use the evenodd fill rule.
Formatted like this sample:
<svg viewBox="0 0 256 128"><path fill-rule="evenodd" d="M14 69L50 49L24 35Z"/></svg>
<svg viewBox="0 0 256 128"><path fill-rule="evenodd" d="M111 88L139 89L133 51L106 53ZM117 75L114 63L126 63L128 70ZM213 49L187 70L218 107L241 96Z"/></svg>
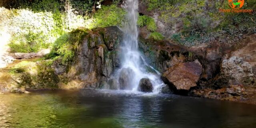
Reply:
<svg viewBox="0 0 256 128"><path fill-rule="evenodd" d="M154 10L159 20L170 30L174 42L186 46L218 40L223 43L234 43L242 38L241 34L256 32L255 13L220 13L219 8L228 9L227 0L143 0L148 11ZM255 0L245 1L241 9L255 9Z"/></svg>

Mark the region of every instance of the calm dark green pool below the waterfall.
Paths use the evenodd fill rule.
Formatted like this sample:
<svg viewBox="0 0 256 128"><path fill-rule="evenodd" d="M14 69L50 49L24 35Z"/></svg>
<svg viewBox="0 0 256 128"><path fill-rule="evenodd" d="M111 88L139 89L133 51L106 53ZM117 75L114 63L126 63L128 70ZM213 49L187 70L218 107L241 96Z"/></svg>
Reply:
<svg viewBox="0 0 256 128"><path fill-rule="evenodd" d="M1 128L256 128L256 106L93 90L0 94Z"/></svg>

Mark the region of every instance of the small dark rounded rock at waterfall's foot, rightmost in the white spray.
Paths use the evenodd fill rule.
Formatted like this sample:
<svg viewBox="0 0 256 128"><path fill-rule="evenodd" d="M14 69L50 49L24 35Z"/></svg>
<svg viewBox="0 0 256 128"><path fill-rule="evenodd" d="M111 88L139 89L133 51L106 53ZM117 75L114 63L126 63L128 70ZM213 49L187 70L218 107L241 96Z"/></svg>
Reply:
<svg viewBox="0 0 256 128"><path fill-rule="evenodd" d="M150 79L142 78L140 80L140 84L138 86L138 91L140 91L140 92L152 92L153 91L153 85L150 82Z"/></svg>

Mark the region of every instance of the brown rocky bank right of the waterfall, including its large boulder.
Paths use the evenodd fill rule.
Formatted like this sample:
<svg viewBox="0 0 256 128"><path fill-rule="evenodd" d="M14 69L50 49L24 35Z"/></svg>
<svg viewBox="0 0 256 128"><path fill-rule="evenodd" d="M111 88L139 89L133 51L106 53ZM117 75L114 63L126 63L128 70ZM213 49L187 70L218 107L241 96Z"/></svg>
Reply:
<svg viewBox="0 0 256 128"><path fill-rule="evenodd" d="M255 104L256 35L238 44L184 47L140 39L141 51L174 94Z"/></svg>

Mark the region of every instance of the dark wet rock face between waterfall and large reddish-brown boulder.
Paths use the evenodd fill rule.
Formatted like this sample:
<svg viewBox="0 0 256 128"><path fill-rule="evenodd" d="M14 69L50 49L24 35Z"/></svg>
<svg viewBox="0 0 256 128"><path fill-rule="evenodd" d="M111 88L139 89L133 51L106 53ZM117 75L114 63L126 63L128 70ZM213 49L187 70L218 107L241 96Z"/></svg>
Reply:
<svg viewBox="0 0 256 128"><path fill-rule="evenodd" d="M156 42L140 38L139 47L146 56L145 59L148 64L159 72L165 72L168 68L186 60L183 55L186 49L183 46L170 44L167 41Z"/></svg>

